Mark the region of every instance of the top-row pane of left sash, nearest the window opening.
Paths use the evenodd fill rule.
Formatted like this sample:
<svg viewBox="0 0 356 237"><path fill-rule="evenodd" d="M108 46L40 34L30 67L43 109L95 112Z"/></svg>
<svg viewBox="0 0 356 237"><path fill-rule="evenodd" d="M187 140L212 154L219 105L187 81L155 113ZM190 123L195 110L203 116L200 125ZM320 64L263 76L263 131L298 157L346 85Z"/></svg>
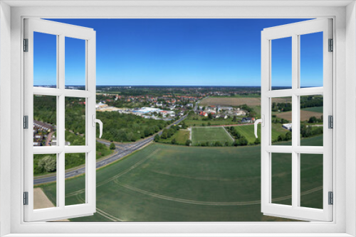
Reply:
<svg viewBox="0 0 356 237"><path fill-rule="evenodd" d="M66 89L85 89L85 40L66 37Z"/></svg>

